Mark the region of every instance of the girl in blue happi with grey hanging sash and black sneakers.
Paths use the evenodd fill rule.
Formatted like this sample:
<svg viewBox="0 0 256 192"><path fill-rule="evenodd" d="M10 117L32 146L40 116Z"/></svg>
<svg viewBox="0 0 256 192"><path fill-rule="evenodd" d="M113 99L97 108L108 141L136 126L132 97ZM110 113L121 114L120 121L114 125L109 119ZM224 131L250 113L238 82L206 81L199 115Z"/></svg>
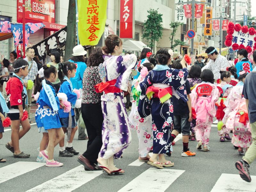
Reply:
<svg viewBox="0 0 256 192"><path fill-rule="evenodd" d="M59 72L58 76L61 81L60 90L59 93L65 93L68 97L68 101L72 104L71 111L66 113L63 109L60 109L59 115L60 115L60 121L63 124L62 129L64 133L67 132L68 139L67 139L67 146L64 147L64 138L60 141L60 152L59 156L64 157L70 157L73 155L78 155L79 152L77 152L73 146L72 141L74 139L76 130L77 130L77 123L75 119L75 113L74 108L76 105L79 105L77 93L74 92L72 83L70 81L70 78L75 77L76 75L76 65L73 62L65 62L59 64ZM81 105L81 102L80 102ZM81 106L76 106L77 108Z"/></svg>

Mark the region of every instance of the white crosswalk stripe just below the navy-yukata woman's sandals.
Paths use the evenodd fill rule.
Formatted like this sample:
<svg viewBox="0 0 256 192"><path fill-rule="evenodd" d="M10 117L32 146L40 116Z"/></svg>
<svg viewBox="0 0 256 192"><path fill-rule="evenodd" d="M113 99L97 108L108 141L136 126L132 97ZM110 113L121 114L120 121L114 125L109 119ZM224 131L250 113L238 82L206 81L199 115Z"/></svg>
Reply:
<svg viewBox="0 0 256 192"><path fill-rule="evenodd" d="M149 168L133 179L118 192L125 191L165 191L185 170ZM143 185L142 185L143 184Z"/></svg>

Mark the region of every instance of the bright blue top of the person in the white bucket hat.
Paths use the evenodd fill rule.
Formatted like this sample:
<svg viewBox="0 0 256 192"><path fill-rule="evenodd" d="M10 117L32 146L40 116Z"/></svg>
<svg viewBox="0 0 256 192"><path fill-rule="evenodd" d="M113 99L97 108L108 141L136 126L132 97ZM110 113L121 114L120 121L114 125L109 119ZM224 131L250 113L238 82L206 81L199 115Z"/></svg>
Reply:
<svg viewBox="0 0 256 192"><path fill-rule="evenodd" d="M73 62L76 64L76 76L73 78L70 78L70 81L72 83L73 89L83 89L83 76L84 71L87 68L87 65L84 62L74 62L73 60L68 60L70 62Z"/></svg>

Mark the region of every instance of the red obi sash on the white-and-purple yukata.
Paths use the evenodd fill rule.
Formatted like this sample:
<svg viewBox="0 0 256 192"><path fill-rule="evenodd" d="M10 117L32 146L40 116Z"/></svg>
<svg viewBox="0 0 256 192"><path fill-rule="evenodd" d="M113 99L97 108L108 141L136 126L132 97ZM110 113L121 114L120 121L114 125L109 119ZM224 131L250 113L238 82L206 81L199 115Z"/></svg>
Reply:
<svg viewBox="0 0 256 192"><path fill-rule="evenodd" d="M115 87L115 84L116 84L116 79L113 79L111 81L101 82L99 84L96 84L94 88L97 93L101 93L103 91L105 93L120 93L121 89Z"/></svg>

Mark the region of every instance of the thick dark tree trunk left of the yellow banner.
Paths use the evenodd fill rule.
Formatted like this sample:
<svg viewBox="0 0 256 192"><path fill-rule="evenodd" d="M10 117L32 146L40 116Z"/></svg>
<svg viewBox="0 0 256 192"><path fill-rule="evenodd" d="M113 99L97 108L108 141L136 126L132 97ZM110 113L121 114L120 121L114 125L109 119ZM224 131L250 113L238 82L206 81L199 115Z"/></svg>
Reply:
<svg viewBox="0 0 256 192"><path fill-rule="evenodd" d="M65 45L65 58L67 61L73 53L73 47L76 45L76 0L69 0L68 4L68 22L67 38Z"/></svg>

